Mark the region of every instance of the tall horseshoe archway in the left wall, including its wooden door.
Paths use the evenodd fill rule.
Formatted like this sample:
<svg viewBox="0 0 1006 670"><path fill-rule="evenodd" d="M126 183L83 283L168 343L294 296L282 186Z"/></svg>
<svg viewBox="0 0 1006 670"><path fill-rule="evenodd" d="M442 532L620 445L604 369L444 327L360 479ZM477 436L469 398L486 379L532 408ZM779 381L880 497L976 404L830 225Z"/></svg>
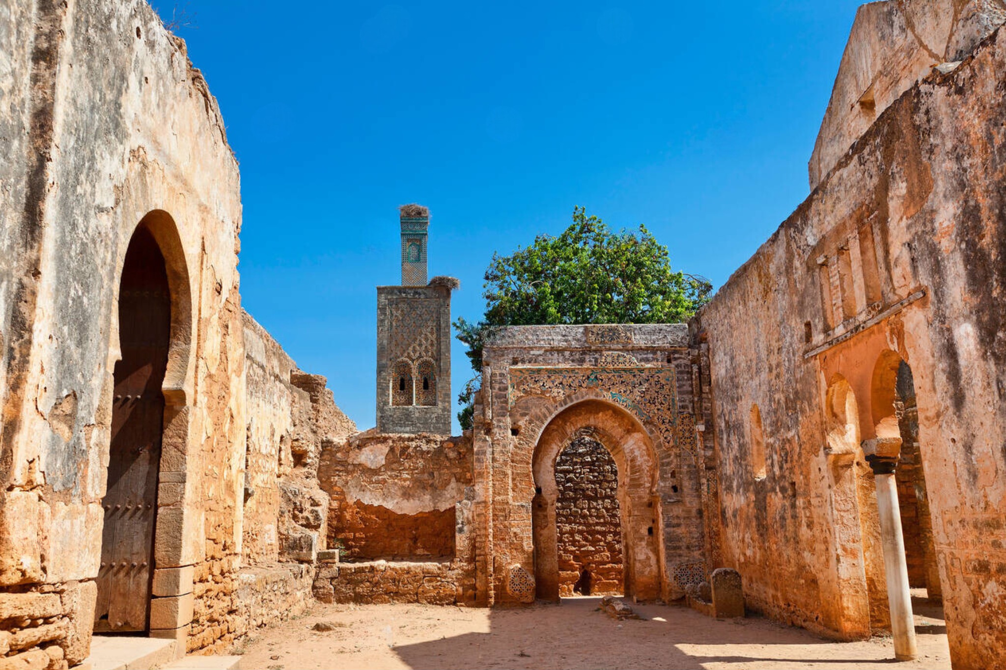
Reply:
<svg viewBox="0 0 1006 670"><path fill-rule="evenodd" d="M166 212L148 213L120 257L114 370L103 400L112 416L95 630L143 632L151 628L155 572L190 565L197 541L185 532L186 496L173 490L174 500L159 500L165 468L168 481L186 476L192 298L181 239ZM190 590L179 584L157 595ZM160 626L189 623L175 609L177 621Z"/></svg>

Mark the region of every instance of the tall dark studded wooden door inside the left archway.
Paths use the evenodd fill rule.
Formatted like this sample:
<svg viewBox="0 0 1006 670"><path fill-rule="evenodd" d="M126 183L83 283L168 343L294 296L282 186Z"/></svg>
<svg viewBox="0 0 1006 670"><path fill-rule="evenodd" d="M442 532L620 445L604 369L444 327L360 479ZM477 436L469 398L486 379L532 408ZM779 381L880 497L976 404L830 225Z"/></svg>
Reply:
<svg viewBox="0 0 1006 670"><path fill-rule="evenodd" d="M170 326L164 257L141 226L126 252L119 291L122 360L115 369L96 631L147 630Z"/></svg>

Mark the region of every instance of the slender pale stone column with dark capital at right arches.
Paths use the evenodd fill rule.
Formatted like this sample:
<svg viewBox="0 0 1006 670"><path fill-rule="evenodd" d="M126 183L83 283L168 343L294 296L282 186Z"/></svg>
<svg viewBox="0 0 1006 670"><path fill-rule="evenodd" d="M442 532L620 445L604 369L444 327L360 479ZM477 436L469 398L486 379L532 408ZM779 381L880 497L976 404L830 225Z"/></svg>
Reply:
<svg viewBox="0 0 1006 670"><path fill-rule="evenodd" d="M901 535L901 511L897 504L894 468L901 451L901 438L874 438L863 441L866 462L873 469L880 515L880 542L890 606L890 629L894 635L894 658L910 661L918 655L915 646L915 622L911 616L908 592L908 567L904 561L904 537Z"/></svg>

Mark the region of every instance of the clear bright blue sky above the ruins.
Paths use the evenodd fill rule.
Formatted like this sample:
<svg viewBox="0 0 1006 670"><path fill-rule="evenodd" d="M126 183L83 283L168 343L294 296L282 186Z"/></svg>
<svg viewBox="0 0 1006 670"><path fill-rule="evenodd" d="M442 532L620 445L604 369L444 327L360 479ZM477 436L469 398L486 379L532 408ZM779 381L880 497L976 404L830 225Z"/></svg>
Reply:
<svg viewBox="0 0 1006 670"><path fill-rule="evenodd" d="M430 207L455 316L574 205L718 287L808 195L858 4L180 3L240 163L244 307L366 429L398 205Z"/></svg>

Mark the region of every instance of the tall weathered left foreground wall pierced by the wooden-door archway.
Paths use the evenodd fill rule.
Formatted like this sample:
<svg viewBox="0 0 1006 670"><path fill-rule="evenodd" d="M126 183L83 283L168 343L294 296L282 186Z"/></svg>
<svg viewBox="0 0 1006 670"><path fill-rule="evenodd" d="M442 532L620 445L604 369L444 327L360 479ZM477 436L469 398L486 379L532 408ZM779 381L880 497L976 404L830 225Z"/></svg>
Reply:
<svg viewBox="0 0 1006 670"><path fill-rule="evenodd" d="M193 566L230 589L244 440L238 172L215 99L146 3L10 0L0 16L0 654L59 667L90 646L118 270L148 214L181 301L155 547L171 588L151 626L184 637Z"/></svg>

